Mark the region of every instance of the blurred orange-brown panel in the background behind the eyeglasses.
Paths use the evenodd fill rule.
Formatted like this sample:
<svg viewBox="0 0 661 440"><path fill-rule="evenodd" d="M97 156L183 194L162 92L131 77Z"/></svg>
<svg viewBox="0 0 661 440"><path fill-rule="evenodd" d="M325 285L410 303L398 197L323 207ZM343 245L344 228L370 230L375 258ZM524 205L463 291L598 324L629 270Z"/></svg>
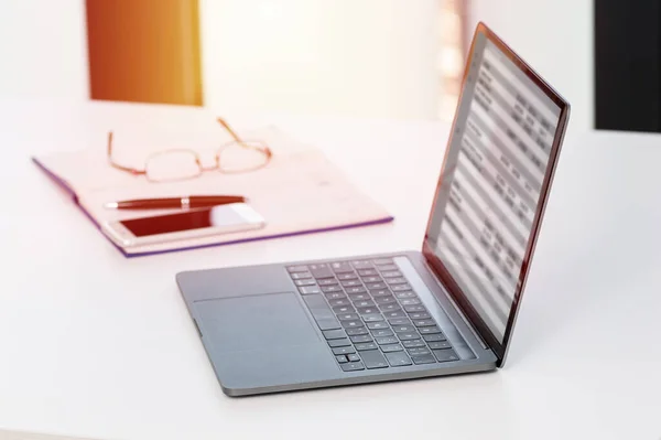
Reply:
<svg viewBox="0 0 661 440"><path fill-rule="evenodd" d="M202 106L198 0L86 0L91 99Z"/></svg>

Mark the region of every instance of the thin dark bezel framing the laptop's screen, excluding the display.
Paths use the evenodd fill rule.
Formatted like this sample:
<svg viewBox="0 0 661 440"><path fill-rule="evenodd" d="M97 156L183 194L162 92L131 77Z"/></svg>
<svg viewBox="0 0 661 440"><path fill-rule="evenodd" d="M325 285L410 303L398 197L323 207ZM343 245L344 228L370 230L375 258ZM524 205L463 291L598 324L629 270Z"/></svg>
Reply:
<svg viewBox="0 0 661 440"><path fill-rule="evenodd" d="M423 239L422 253L425 256L432 270L434 270L435 275L441 279L443 285L448 290L448 293L453 297L453 299L456 301L458 307L462 309L462 312L466 315L466 318L475 326L475 329L477 330L479 335L485 340L485 342L491 347L494 353L498 356L498 366L500 367L500 366L502 366L502 364L505 363L505 359L507 357L509 342L510 342L512 330L513 330L513 326L514 326L514 323L517 320L517 315L519 312L522 293L525 288L525 281L528 279L528 272L529 272L529 269L530 269L530 266L532 262L532 256L534 254L534 248L537 245L539 230L540 230L540 227L542 224L544 210L546 207L546 202L549 198L551 183L553 181L553 176L554 176L555 169L557 165L557 158L559 158L560 150L562 147L564 133L566 131L566 126L567 126L568 115L570 115L570 105L564 98L562 98L562 96L560 94L557 94L557 92L555 92L546 82L544 82L528 64L525 64L525 62L521 57L519 57L502 40L500 40L489 28L487 28L486 24L480 22L480 23L478 23L478 25L475 30L475 33L473 36L473 42L470 44L470 50L468 52L468 57L466 60L466 67L464 69L464 76L462 79L462 93L459 95L457 108L458 108L458 106L460 106L460 104L464 99L464 92L465 92L464 89L466 86L466 78L467 78L468 69L469 69L470 63L473 61L473 57L475 55L474 51L475 51L476 40L477 40L478 35L480 35L480 34L485 35L491 43L494 43L502 52L503 55L506 55L514 65L517 65L521 69L521 72L523 74L525 74L525 76L528 78L530 78L540 88L540 90L542 90L546 96L549 96L549 98L551 98L553 100L553 103L555 103L561 109L557 129L556 129L556 132L555 132L555 136L553 139L551 152L549 155L549 163L546 165L546 172L544 174L544 180L542 182L542 187L540 191L539 205L538 205L538 208L534 214L533 222L532 222L532 228L531 228L528 245L525 248L523 262L521 266L521 271L519 272L519 279L518 279L518 282L516 286L513 301L512 301L512 305L511 305L508 321L506 324L506 330L505 330L505 335L502 337L502 342L496 337L496 335L491 332L491 330L488 328L486 322L480 318L477 310L470 304L470 301L468 300L467 296L462 291L462 288L453 279L451 272L444 266L443 261L434 254L432 247L429 244L429 237L431 235L430 228L432 226L432 219L434 216L435 204L436 204L436 201L437 201L437 197L440 194L441 186L443 185L445 164L447 161L449 147L451 147L452 140L453 140L453 133L455 132L455 125L457 124L457 115L456 114L455 114L455 119L452 125L452 129L449 131L451 135L447 140L445 157L443 159L443 165L441 168L441 175L440 175L438 183L436 186L436 193L433 198L434 205L432 206L432 210L430 212L426 233L425 233L425 236Z"/></svg>

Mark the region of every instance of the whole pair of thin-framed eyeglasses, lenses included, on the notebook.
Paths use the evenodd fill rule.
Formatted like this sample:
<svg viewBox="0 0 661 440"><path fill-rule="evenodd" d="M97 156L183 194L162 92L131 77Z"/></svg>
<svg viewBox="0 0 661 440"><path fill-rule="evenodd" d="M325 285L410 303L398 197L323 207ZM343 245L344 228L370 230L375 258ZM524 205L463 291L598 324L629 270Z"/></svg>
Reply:
<svg viewBox="0 0 661 440"><path fill-rule="evenodd" d="M160 151L147 158L142 169L122 165L112 158L112 131L108 132L108 162L117 170L133 175L144 175L151 182L172 182L195 179L205 171L236 174L264 168L271 161L271 149L259 140L243 140L223 118L217 118L234 140L216 151L213 165L204 167L195 150L173 149Z"/></svg>

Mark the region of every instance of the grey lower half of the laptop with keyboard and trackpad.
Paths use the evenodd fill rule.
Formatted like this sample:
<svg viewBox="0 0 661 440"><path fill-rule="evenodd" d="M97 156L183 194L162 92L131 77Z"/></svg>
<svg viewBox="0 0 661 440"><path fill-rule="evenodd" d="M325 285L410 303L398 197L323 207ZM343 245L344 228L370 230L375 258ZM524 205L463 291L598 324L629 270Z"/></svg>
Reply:
<svg viewBox="0 0 661 440"><path fill-rule="evenodd" d="M176 279L228 396L496 368L416 251Z"/></svg>

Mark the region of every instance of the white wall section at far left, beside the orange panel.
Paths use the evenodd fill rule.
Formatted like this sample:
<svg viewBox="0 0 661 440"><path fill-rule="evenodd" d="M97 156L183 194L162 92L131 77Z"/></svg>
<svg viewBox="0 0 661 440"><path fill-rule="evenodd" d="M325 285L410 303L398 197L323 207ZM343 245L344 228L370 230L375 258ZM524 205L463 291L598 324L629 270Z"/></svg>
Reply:
<svg viewBox="0 0 661 440"><path fill-rule="evenodd" d="M0 3L0 99L87 99L84 0Z"/></svg>

